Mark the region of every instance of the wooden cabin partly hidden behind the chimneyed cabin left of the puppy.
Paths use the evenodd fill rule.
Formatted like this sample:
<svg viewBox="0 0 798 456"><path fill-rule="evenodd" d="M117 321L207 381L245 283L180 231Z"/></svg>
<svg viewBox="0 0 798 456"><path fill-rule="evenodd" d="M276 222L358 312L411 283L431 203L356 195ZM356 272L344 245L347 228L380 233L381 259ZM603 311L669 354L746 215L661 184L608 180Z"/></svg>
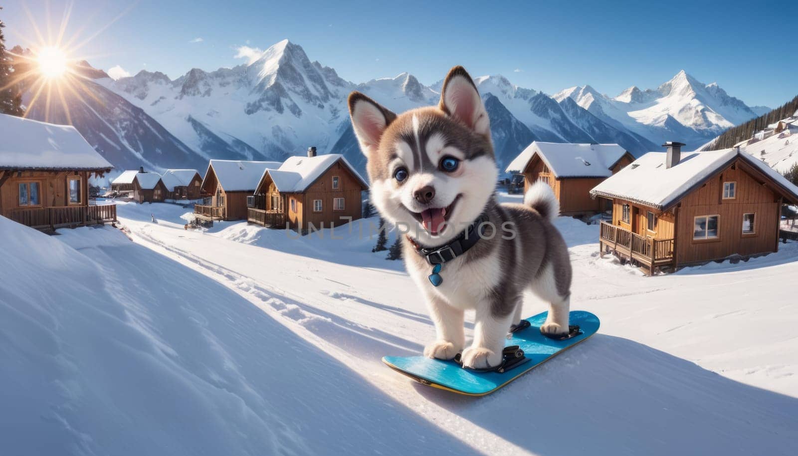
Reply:
<svg viewBox="0 0 798 456"><path fill-rule="evenodd" d="M211 160L200 184L202 204L194 213L204 220L247 218L247 196L251 196L266 169L278 169L279 161Z"/></svg>

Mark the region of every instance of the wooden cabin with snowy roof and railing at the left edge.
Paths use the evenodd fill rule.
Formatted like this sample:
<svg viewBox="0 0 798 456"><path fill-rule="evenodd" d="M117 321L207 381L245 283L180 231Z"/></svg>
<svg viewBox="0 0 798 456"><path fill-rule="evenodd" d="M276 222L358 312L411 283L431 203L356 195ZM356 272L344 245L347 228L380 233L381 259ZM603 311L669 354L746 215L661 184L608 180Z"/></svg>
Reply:
<svg viewBox="0 0 798 456"><path fill-rule="evenodd" d="M74 127L0 114L0 131L0 215L45 230L117 220L89 204L89 178L113 166Z"/></svg>

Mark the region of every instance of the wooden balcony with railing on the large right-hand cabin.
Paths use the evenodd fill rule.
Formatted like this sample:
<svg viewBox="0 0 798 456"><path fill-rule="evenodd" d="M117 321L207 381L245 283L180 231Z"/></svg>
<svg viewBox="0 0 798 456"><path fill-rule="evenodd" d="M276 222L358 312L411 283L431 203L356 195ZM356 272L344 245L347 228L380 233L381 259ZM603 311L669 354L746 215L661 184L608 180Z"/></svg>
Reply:
<svg viewBox="0 0 798 456"><path fill-rule="evenodd" d="M610 248L619 256L635 260L648 269L649 275L654 268L674 262L674 240L643 237L605 221L601 222L599 231L599 254Z"/></svg>

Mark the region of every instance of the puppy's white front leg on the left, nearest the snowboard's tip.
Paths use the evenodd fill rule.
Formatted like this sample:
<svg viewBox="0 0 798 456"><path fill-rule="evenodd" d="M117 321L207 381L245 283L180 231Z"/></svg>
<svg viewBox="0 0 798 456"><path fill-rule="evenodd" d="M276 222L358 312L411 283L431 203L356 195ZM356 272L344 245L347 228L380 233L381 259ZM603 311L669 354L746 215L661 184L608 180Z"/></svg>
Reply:
<svg viewBox="0 0 798 456"><path fill-rule="evenodd" d="M463 310L452 307L433 295L427 296L427 307L435 323L437 339L424 347L424 355L427 358L454 358L465 346Z"/></svg>

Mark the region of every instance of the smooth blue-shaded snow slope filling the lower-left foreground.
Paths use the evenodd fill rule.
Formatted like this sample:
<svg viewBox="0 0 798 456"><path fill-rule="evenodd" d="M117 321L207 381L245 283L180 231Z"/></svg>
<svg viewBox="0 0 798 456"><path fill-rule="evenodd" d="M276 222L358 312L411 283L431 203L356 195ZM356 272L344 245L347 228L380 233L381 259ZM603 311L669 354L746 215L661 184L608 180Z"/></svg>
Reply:
<svg viewBox="0 0 798 456"><path fill-rule="evenodd" d="M477 454L117 229L51 237L0 217L0 237L2 454Z"/></svg>

